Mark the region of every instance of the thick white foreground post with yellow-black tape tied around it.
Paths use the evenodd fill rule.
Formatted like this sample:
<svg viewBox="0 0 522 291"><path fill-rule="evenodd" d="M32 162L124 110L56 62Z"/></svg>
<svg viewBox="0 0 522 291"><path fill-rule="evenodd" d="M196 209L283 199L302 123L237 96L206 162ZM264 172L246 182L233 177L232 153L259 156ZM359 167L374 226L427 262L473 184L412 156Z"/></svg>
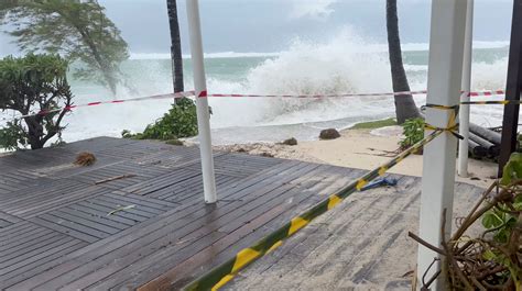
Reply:
<svg viewBox="0 0 522 291"><path fill-rule="evenodd" d="M466 1L434 0L432 2L432 29L429 37L429 66L427 103L456 105L459 103L463 80L464 36ZM428 108L426 122L447 127L450 111ZM445 237L452 232L453 198L455 187L457 138L443 133L424 147L421 195L420 236L441 247L443 211L446 210ZM417 253L417 279L426 273L431 279L439 264L429 265L439 255L420 245ZM431 290L444 290L444 278L437 279ZM417 289L422 286L417 284Z"/></svg>

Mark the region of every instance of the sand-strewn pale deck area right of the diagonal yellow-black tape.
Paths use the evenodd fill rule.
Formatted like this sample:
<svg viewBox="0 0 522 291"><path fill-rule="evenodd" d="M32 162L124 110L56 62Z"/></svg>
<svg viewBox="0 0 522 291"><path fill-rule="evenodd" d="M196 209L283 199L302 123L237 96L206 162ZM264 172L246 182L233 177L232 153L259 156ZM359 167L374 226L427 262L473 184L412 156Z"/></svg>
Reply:
<svg viewBox="0 0 522 291"><path fill-rule="evenodd" d="M482 192L457 183L454 219ZM417 244L407 232L418 232L420 198L421 178L414 177L354 193L224 290L411 290Z"/></svg>

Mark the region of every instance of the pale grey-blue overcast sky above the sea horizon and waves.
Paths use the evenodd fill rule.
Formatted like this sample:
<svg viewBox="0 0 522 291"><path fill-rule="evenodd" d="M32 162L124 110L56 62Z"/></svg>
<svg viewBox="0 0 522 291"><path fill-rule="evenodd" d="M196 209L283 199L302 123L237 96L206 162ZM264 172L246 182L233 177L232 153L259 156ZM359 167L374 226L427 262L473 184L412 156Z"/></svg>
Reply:
<svg viewBox="0 0 522 291"><path fill-rule="evenodd" d="M441 0L448 1L448 0ZM132 53L167 53L165 0L99 0ZM403 43L427 43L431 1L399 0ZM385 43L385 0L200 0L206 53L280 52L295 37L323 42L351 27ZM475 40L509 41L512 0L476 0ZM185 1L178 1L183 49L188 53ZM0 34L0 55L17 53Z"/></svg>

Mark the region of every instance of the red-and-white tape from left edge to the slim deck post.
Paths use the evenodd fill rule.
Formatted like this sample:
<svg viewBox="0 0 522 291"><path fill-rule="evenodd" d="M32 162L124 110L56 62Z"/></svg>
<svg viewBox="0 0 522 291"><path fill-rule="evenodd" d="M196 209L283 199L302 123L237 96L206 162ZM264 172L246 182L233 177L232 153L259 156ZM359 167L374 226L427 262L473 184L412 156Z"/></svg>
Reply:
<svg viewBox="0 0 522 291"><path fill-rule="evenodd" d="M148 97L139 97L139 98L131 98L131 99L120 99L120 100L111 100L111 101L96 101L96 102L88 102L79 105L69 105L63 108L56 108L51 110L41 110L37 113L26 114L22 116L17 116L14 119L2 119L2 120L21 120L25 117L39 116L39 115L47 115L55 112L61 111L70 111L77 108L86 108L86 107L96 107L96 105L104 105L104 104L119 104L119 103L128 103L128 102L139 102L145 100L160 100L160 99L171 99L171 98L182 98L182 97L194 97L196 94L195 91L185 91L185 92L177 92L177 93L170 93L170 94L156 94L156 96L148 96ZM205 97L206 91L203 91L199 97Z"/></svg>

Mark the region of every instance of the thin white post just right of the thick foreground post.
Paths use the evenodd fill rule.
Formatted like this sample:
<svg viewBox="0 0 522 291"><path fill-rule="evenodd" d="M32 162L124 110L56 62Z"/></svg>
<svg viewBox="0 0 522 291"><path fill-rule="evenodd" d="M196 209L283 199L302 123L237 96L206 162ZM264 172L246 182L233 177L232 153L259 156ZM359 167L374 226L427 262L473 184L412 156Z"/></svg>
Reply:
<svg viewBox="0 0 522 291"><path fill-rule="evenodd" d="M474 52L474 0L468 0L466 12L466 40L464 43L463 63L463 91L471 90L471 64ZM469 101L469 96L465 94L461 101ZM460 105L460 130L464 137L458 142L458 176L468 177L468 141L469 141L469 105Z"/></svg>

